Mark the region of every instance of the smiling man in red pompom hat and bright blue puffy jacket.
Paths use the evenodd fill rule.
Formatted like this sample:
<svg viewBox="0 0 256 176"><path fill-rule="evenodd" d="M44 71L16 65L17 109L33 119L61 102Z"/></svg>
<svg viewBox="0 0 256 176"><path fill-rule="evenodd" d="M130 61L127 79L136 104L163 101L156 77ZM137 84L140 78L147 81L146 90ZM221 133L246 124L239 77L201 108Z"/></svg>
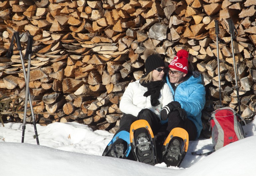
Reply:
<svg viewBox="0 0 256 176"><path fill-rule="evenodd" d="M166 82L171 88L174 101L161 110L161 118L168 118L168 132L180 127L188 132L189 140L195 140L202 130L201 110L205 104L205 88L201 84L200 73L193 71L189 74L188 56L189 53L186 50L180 50L169 65ZM180 139L176 139L171 145L181 147L181 142ZM169 156L168 160L173 163L165 158L163 160L169 162L169 165L176 165L175 161L180 153L177 151L172 153L174 158L170 159Z"/></svg>

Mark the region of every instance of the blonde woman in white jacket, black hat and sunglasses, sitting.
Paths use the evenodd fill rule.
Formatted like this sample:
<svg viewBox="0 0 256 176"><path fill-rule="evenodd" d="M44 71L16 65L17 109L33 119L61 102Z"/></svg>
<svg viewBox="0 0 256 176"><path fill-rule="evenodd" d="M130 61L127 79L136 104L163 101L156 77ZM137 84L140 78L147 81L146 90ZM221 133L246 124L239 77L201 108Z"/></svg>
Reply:
<svg viewBox="0 0 256 176"><path fill-rule="evenodd" d="M167 119L167 116L162 117L162 119L160 117L162 108L173 101L172 92L163 81L165 63L160 56L154 54L146 59L145 68L146 74L140 80L129 83L122 96L119 106L123 112L123 117L120 120L120 129L114 135L113 143L106 147L103 155L119 158L128 156L127 142L124 138L121 139L120 136L119 139L116 140L116 138L117 134L122 132L126 132L125 134L129 135L128 132L134 121L139 119L148 121L155 135L161 128L162 119ZM149 147L148 150L152 150L152 148ZM152 164L151 161L145 162Z"/></svg>

